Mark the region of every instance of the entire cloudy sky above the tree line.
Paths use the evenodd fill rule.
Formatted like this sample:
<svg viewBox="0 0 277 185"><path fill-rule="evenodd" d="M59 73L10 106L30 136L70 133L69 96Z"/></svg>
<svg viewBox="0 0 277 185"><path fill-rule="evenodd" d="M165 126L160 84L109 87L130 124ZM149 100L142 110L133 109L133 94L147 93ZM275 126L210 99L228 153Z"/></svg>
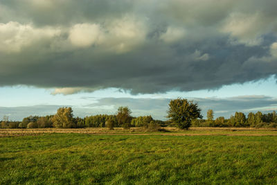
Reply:
<svg viewBox="0 0 277 185"><path fill-rule="evenodd" d="M0 119L277 110L275 0L1 0Z"/></svg>

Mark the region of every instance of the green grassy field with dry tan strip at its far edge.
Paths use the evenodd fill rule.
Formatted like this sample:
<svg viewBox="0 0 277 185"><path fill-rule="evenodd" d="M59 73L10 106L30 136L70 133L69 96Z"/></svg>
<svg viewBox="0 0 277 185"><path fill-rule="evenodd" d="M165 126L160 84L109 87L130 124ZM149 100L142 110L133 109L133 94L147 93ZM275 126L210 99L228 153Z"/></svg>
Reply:
<svg viewBox="0 0 277 185"><path fill-rule="evenodd" d="M277 184L273 129L0 133L0 184Z"/></svg>

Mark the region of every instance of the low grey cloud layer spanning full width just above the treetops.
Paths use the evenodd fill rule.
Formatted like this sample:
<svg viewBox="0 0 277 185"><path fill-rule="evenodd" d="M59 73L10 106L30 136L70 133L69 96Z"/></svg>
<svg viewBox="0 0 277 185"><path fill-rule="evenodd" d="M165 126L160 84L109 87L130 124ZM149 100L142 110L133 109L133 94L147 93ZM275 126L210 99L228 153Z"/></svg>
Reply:
<svg viewBox="0 0 277 185"><path fill-rule="evenodd" d="M133 116L152 115L154 118L166 120L168 109L168 98L100 98L95 103L95 98L84 97L91 103L83 107L73 107L75 116L90 116L95 114L115 114L120 106L128 106L132 109ZM215 117L225 116L229 118L235 112L272 112L277 111L277 99L269 96L238 96L231 98L190 98L195 100L202 108L202 114L206 117L208 109L213 109ZM68 105L67 105L68 106ZM30 107L0 107L0 120L4 115L10 119L21 121L22 118L30 115L45 116L55 114L62 105L36 105ZM239 108L238 108L239 107Z"/></svg>

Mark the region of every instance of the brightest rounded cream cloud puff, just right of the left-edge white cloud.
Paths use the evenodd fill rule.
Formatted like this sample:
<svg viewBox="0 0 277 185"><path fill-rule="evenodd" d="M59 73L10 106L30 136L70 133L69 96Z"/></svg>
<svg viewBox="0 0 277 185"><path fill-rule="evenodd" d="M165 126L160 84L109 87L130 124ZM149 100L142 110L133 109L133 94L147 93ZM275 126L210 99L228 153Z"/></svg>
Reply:
<svg viewBox="0 0 277 185"><path fill-rule="evenodd" d="M88 47L102 42L102 30L98 24L75 24L69 30L69 39L74 46Z"/></svg>

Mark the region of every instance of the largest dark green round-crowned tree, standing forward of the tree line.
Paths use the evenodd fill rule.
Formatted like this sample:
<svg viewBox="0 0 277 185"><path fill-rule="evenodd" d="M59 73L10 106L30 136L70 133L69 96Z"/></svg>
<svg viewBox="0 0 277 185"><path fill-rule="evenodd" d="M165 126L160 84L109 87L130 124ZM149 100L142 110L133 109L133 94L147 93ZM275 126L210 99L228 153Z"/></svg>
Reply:
<svg viewBox="0 0 277 185"><path fill-rule="evenodd" d="M195 118L202 118L201 109L192 100L177 98L170 100L168 118L177 123L181 129L188 130L191 121Z"/></svg>

